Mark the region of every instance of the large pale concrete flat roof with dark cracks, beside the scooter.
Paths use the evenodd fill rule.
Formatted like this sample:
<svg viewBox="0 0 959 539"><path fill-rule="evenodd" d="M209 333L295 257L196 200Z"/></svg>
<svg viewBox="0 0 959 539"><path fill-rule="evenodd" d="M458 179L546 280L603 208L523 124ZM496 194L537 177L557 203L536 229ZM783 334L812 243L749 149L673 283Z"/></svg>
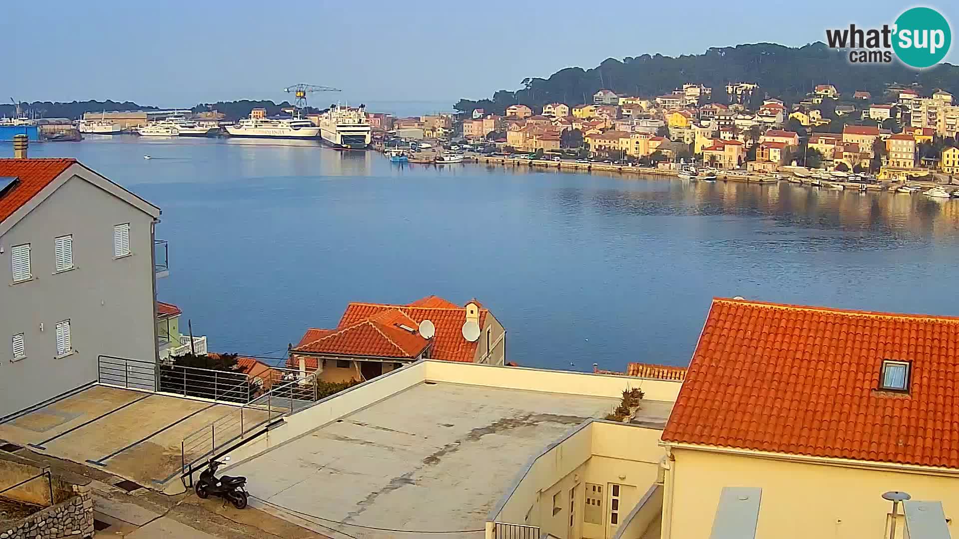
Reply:
<svg viewBox="0 0 959 539"><path fill-rule="evenodd" d="M253 495L269 504L330 521L481 530L530 457L618 404L607 397L421 382L225 473L246 476ZM644 404L651 412L645 419L658 422L672 403ZM416 536L314 522L363 538Z"/></svg>

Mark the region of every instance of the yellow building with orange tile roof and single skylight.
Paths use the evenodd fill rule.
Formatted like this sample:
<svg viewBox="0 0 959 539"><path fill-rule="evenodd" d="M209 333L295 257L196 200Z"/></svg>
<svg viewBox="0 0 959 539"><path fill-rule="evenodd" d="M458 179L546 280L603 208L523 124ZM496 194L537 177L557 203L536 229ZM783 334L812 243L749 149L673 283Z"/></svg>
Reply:
<svg viewBox="0 0 959 539"><path fill-rule="evenodd" d="M953 318L715 299L704 328L662 436L663 539L903 537L916 506L893 513L893 490L945 512L920 536L948 537ZM734 514L748 532L717 535Z"/></svg>

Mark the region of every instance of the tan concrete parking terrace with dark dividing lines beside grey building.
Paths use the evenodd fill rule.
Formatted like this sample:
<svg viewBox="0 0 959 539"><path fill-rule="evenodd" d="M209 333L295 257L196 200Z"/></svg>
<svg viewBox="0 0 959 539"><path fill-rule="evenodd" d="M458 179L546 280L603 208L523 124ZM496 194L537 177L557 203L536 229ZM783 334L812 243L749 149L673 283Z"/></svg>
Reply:
<svg viewBox="0 0 959 539"><path fill-rule="evenodd" d="M94 386L0 424L0 439L144 486L180 471L183 437L235 407ZM256 413L256 411L252 411Z"/></svg>

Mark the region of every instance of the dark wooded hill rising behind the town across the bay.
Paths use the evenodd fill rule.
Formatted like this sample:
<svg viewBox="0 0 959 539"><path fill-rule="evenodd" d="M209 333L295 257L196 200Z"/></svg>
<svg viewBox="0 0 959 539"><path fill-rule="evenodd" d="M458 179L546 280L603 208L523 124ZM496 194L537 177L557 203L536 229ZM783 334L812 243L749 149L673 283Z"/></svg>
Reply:
<svg viewBox="0 0 959 539"><path fill-rule="evenodd" d="M856 66L849 63L842 51L819 41L798 48L755 43L711 48L702 55L677 58L657 54L606 59L586 70L567 67L549 79L527 78L520 89L500 90L489 99L461 99L454 107L461 112L482 108L486 113L503 114L507 106L516 104L538 108L550 103L592 103L593 94L603 88L619 95L658 96L690 81L715 88L725 88L730 82L755 82L759 84L756 95L769 94L792 104L802 101L816 84L822 83L830 83L849 95L865 90L877 97L892 84L929 90L956 88L959 67L943 63L917 71L898 61ZM723 97L720 92L713 100Z"/></svg>

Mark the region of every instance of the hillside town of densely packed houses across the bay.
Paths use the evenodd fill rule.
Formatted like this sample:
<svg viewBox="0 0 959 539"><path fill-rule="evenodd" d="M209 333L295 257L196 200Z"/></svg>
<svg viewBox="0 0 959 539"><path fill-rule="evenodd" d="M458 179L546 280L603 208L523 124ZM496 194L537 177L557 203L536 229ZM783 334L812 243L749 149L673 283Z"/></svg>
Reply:
<svg viewBox="0 0 959 539"><path fill-rule="evenodd" d="M600 89L592 103L515 104L496 112L367 117L375 138L462 138L487 153L756 173L798 165L888 180L959 173L959 105L942 89L925 96L921 88L891 84L874 96L822 83L787 104L754 82L731 82L725 94L690 82L660 96Z"/></svg>

